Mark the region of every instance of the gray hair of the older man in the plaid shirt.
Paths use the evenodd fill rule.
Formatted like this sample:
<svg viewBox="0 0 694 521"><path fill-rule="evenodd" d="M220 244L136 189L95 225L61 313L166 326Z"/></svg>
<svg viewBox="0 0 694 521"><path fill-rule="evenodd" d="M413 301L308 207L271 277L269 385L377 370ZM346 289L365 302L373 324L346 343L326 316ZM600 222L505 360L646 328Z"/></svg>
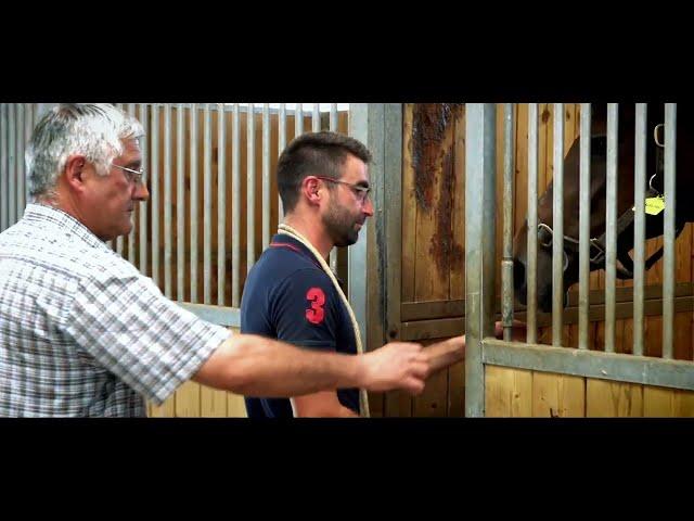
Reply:
<svg viewBox="0 0 694 521"><path fill-rule="evenodd" d="M70 155L81 154L101 176L123 153L124 139L144 136L140 122L108 103L61 103L34 129L25 153L29 193L52 196Z"/></svg>

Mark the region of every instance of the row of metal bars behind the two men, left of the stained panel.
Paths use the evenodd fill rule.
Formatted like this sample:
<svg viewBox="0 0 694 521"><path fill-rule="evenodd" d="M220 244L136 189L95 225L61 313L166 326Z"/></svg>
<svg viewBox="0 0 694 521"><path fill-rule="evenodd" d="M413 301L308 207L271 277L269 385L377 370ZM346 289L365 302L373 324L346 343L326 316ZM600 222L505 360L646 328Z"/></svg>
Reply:
<svg viewBox="0 0 694 521"><path fill-rule="evenodd" d="M143 156L143 165L145 165L145 169L147 169L146 176L151 179L150 185L150 194L151 194L151 204L153 207L159 207L159 200L163 198L164 200L164 214L159 216L157 212L152 213L152 238L151 241L147 242L147 214L144 211L139 212L139 241L140 241L140 258L139 258L139 269L141 272L146 274L147 268L147 250L151 250L152 254L152 274L151 277L154 282L163 288L164 294L168 297L174 298L172 295L172 269L171 269L171 260L172 260L172 230L171 230L171 208L172 208L172 199L171 199L171 187L172 182L177 183L177 244L176 244L176 255L177 255L177 266L184 266L184 220L185 220L185 202L184 202L184 168L188 167L190 171L191 178L191 194L190 194L190 208L189 208L189 218L191 223L197 223L201 217L204 219L204 233L203 233L203 303L204 304L213 304L211 302L211 221L213 221L213 198L215 196L211 193L213 186L213 169L211 169L211 117L210 111L231 111L232 112L232 183L234 187L240 186L241 181L241 132L240 132L240 112L247 111L248 114L255 114L256 106L254 104L246 105L241 107L240 104L223 104L223 103L215 103L215 104L177 104L171 105L168 103L157 103L157 104L139 104L139 120L145 127L144 130L146 134L151 132L151 150L147 144L147 140L142 140L142 156ZM134 103L124 103L116 104L116 106L120 107L125 112L136 115L136 104ZM176 122L171 122L171 106L176 106L177 110L177 118ZM184 163L184 144L183 144L183 107L190 109L190 143L189 143L189 163ZM0 198L0 231L4 230L16 220L18 220L24 212L24 207L26 202L28 202L28 193L27 193L27 185L25 182L25 173L24 173L24 151L26 143L29 140L31 129L36 124L35 114L36 106L35 104L18 104L18 103L4 103L1 105L2 112L0 113L0 188L2 192L2 196ZM198 136L197 136L197 112L198 109L203 110L203 168L202 175L204 178L204 193L203 193L203 208L202 215L198 208L198 193L197 193L197 179L200 175L198 164L197 164L197 147L198 147ZM321 130L321 117L319 104L313 103L313 110L311 114L311 131ZM162 111L164 116L164 136L159 136L159 126L153 125L152 128L149 127L150 116L152 122L158 122L159 116L158 112ZM268 103L264 103L261 109L262 114L262 246L264 249L268 247L270 238L272 236L270 230L270 155L281 154L281 152L286 147L286 129L287 129L287 110L286 104L282 103L279 107L279 140L278 140L278 150L270 150L270 109ZM151 112L151 114L149 114ZM337 131L337 104L331 103L330 105L330 118L329 118L329 129L332 131ZM177 142L174 144L171 141L171 129L172 125L176 125L177 129ZM256 223L255 223L255 192L256 192L256 164L255 164L255 151L256 151L256 142L255 142L255 117L247 118L247 153L248 161L246 165L246 182L247 182L247 214L246 214L246 266L247 270L250 269L253 264L256 260L256 251L255 251L255 236L256 236ZM226 142L227 135L227 122L224 117L218 118L218 142ZM304 110L303 105L299 103L296 105L295 110L295 136L299 136L305 132L304 129ZM159 179L159 141L163 140L164 144L164 187L158 186ZM177 154L177 171L174 173L171 169L171 154L172 149L175 147ZM224 256L226 256L226 226L224 226L224 216L226 216L226 150L224 147L218 148L218 164L217 164L217 179L218 179L218 193L217 193L217 204L218 204L218 259L217 259L217 305L223 305L224 297L224 287L227 282L227 274L224 269ZM149 168L147 168L149 167ZM174 179L174 174L176 174L176 179ZM279 215L282 215L282 203L279 201ZM159 272L159 218L164 219L164 277L162 280L162 274ZM231 230L231 254L232 254L232 270L231 270L231 305L232 307L240 306L240 252L241 252L241 243L240 243L240 226L241 226L241 193L239 190L234 190L233 199L232 199L232 230ZM190 227L190 272L188 276L191 281L197 280L197 244L198 244L198 232L196 226ZM118 237L117 240L112 242L112 247L116 250L119 254L124 253L124 244L125 241L128 241L128 259L134 264L134 229L127 237ZM331 252L330 256L330 265L331 268L335 271L337 268L337 252L335 249ZM184 295L184 278L187 274L183 272L183 269L177 269L177 295L176 298L178 301L183 301ZM160 285L163 282L163 287ZM191 284L191 295L190 302L197 303L200 297L197 295L197 284Z"/></svg>

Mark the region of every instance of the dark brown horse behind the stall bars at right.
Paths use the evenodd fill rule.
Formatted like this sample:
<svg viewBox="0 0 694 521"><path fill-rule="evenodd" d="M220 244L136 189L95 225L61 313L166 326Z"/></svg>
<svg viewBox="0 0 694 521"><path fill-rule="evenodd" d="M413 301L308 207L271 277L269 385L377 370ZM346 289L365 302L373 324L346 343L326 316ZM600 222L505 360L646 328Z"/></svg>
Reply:
<svg viewBox="0 0 694 521"><path fill-rule="evenodd" d="M634 205L634 125L635 106L633 103L620 104L618 114L618 145L617 145L617 216L622 219L624 229L618 227L617 236L617 277L627 279L632 277L633 266L629 252L633 249L633 219L629 220L627 212ZM591 125L591 179L590 179L590 237L600 239L593 241L590 256L591 271L604 268L604 233L605 233L605 188L606 188L606 105L592 106ZM663 148L655 141L664 139L663 124L664 104L648 104L646 120L646 183L663 193ZM580 139L569 148L564 158L564 290L578 282L578 240L579 237L579 150ZM694 220L694 204L687 199L694 189L694 107L678 104L677 110L677 194L676 230L682 230L684 225ZM653 175L656 176L653 177ZM644 187L648 189L648 187ZM552 310L552 201L553 183L538 200L538 307L542 312ZM646 194L646 196L648 196ZM663 234L664 212L656 216L646 215L646 239ZM514 239L514 287L515 294L522 304L527 300L526 278L526 247L527 218ZM660 252L661 254L661 252ZM654 257L646 262L646 268L652 266ZM566 303L566 298L565 298Z"/></svg>

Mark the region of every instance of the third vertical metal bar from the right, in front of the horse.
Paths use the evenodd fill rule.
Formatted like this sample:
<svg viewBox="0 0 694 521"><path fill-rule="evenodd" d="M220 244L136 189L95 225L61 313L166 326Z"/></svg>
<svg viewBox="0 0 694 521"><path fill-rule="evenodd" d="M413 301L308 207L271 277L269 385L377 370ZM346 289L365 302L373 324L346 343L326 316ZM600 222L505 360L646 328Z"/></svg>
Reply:
<svg viewBox="0 0 694 521"><path fill-rule="evenodd" d="M617 132L618 104L607 104L607 188L605 217L605 353L615 352L617 282Z"/></svg>

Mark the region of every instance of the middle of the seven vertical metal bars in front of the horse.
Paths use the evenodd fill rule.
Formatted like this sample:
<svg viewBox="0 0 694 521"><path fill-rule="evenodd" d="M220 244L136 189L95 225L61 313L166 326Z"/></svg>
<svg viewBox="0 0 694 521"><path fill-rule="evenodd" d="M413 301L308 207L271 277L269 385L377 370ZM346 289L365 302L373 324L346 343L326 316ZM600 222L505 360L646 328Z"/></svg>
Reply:
<svg viewBox="0 0 694 521"><path fill-rule="evenodd" d="M580 120L580 212L578 217L578 348L588 350L590 305L590 145L591 105L581 103Z"/></svg>

